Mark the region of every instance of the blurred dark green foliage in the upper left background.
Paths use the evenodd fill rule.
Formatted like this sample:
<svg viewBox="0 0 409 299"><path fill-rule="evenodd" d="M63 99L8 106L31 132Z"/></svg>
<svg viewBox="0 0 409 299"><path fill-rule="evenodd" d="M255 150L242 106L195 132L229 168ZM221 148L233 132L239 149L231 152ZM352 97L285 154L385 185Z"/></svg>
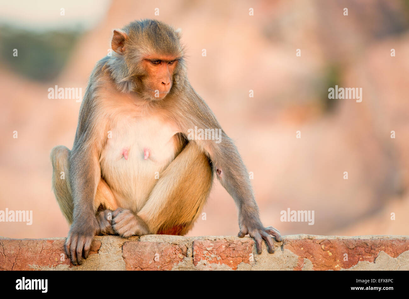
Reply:
<svg viewBox="0 0 409 299"><path fill-rule="evenodd" d="M36 81L55 78L81 36L81 31L27 31L0 26L0 60L13 72ZM17 49L18 56L13 56Z"/></svg>

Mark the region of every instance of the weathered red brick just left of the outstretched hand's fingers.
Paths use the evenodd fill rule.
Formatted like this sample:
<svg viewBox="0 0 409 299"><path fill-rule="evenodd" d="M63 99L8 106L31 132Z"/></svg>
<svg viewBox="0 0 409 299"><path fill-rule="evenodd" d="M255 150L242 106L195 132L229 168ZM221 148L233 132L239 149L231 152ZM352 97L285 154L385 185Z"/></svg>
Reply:
<svg viewBox="0 0 409 299"><path fill-rule="evenodd" d="M236 270L240 263L250 263L253 240L195 240L193 241L193 265L211 268L209 264L227 265Z"/></svg>

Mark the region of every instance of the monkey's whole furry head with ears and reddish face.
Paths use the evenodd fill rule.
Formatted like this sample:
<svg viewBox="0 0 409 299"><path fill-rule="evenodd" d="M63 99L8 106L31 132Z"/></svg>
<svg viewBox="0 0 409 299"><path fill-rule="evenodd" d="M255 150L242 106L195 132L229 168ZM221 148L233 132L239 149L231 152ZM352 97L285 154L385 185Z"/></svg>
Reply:
<svg viewBox="0 0 409 299"><path fill-rule="evenodd" d="M144 99L163 99L185 76L180 31L157 20L131 22L114 30L108 61L122 92L137 92Z"/></svg>

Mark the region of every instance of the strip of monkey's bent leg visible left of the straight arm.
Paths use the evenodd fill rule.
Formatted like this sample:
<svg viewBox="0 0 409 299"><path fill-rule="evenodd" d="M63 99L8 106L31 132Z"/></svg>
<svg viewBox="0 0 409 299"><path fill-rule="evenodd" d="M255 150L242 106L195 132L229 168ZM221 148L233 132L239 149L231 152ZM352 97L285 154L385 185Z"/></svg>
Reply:
<svg viewBox="0 0 409 299"><path fill-rule="evenodd" d="M65 146L56 146L51 150L51 163L53 167L52 187L55 198L60 206L63 215L69 224L72 223L72 212L74 203L71 196L69 179L69 159L70 150Z"/></svg>

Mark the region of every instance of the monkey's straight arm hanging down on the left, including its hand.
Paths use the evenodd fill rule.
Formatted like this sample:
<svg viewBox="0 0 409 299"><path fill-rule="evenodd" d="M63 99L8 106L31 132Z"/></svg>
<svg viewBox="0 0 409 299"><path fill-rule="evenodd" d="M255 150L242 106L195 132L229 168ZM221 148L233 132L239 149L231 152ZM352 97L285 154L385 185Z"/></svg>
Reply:
<svg viewBox="0 0 409 299"><path fill-rule="evenodd" d="M102 130L95 125L96 117L92 112L90 93L85 93L79 114L79 123L70 153L70 185L74 203L73 222L65 242L65 251L72 263L82 263L88 257L94 236L99 225L94 211L94 198L101 168L99 153L101 151Z"/></svg>

